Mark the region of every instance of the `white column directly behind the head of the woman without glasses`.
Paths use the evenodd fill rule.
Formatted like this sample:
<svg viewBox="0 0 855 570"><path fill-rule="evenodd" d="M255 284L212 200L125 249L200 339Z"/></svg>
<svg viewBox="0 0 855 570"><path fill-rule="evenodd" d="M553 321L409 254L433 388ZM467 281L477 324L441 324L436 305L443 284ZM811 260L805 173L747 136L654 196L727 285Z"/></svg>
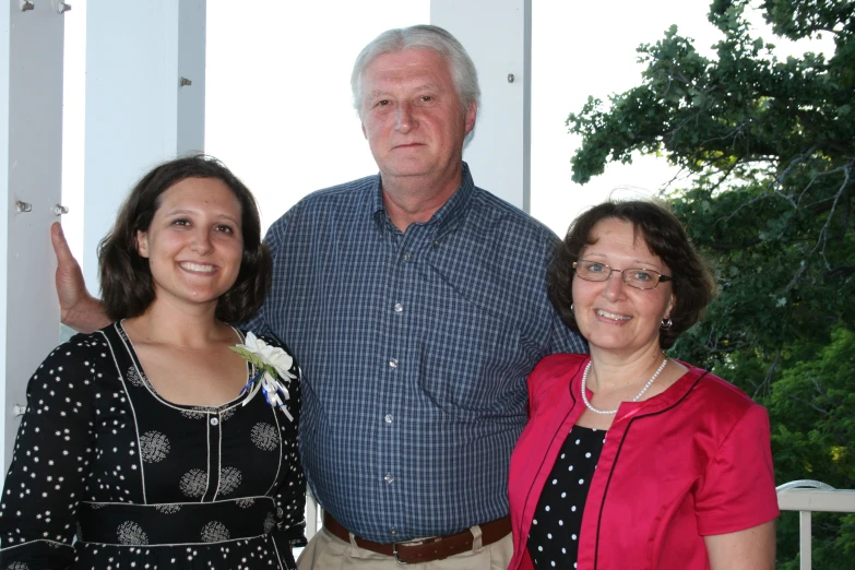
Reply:
<svg viewBox="0 0 855 570"><path fill-rule="evenodd" d="M88 0L83 273L155 164L204 146L205 0Z"/></svg>

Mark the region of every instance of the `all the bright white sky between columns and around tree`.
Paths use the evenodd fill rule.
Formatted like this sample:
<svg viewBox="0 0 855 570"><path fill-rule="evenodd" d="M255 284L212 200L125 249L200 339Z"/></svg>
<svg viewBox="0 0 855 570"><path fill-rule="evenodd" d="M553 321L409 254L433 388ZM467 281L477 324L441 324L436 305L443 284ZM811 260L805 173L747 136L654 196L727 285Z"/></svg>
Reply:
<svg viewBox="0 0 855 570"><path fill-rule="evenodd" d="M709 3L532 0L532 215L562 235L581 210L610 195L655 193L675 177L664 158L638 157L575 185L570 158L580 140L565 120L589 96L606 99L638 85L637 47L672 24L712 54L720 34L706 21ZM430 9L429 0L247 5L207 0L205 151L253 190L266 228L302 195L377 171L351 103L353 60L380 32L429 21ZM85 0L76 0L66 14L63 203L71 211L63 226L79 256L85 13Z"/></svg>

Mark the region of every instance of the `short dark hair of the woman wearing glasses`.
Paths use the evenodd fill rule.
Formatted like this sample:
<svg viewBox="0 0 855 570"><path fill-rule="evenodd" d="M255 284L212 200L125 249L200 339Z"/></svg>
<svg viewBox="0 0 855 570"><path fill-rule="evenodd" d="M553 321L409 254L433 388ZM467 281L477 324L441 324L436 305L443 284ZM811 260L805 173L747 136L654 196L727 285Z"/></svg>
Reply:
<svg viewBox="0 0 855 570"><path fill-rule="evenodd" d="M669 348L682 331L698 322L716 294L715 281L696 251L686 229L665 206L655 202L608 201L595 205L573 221L553 258L547 278L549 299L567 325L579 332L573 311L573 262L579 252L594 244L594 226L604 219L629 222L650 250L670 268L676 302L670 311L674 324L660 330L660 346Z"/></svg>

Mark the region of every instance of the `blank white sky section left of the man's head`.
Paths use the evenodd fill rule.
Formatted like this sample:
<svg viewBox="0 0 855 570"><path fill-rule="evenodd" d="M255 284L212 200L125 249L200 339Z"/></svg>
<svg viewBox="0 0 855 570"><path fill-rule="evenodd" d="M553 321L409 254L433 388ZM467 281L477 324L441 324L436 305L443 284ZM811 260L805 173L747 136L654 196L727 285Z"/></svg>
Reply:
<svg viewBox="0 0 855 570"><path fill-rule="evenodd" d="M352 105L351 70L381 32L428 22L430 2L253 7L209 2L205 151L252 190L266 228L313 190L377 174Z"/></svg>

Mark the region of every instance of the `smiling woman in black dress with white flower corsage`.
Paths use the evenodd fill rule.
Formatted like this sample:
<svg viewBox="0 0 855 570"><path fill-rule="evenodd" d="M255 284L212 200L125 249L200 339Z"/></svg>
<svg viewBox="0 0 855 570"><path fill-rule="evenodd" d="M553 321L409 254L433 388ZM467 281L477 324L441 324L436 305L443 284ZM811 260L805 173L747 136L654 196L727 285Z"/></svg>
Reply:
<svg viewBox="0 0 855 570"><path fill-rule="evenodd" d="M98 259L116 322L57 347L29 381L0 567L294 568L298 368L234 326L270 285L251 193L211 158L163 164Z"/></svg>

